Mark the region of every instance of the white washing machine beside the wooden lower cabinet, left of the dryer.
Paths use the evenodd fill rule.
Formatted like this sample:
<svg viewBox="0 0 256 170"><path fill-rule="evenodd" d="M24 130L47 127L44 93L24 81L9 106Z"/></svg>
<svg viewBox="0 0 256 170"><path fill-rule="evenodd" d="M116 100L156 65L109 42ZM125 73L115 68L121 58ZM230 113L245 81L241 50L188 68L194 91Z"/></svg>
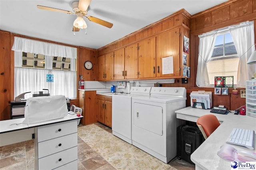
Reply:
<svg viewBox="0 0 256 170"><path fill-rule="evenodd" d="M132 97L149 96L151 87L131 87L130 94L112 95L112 134L132 144Z"/></svg>

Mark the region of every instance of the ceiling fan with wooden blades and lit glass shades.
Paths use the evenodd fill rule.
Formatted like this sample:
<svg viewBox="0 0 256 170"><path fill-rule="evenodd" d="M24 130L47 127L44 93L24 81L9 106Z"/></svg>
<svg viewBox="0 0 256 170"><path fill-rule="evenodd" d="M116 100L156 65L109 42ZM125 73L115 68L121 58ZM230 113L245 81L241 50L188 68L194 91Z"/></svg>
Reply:
<svg viewBox="0 0 256 170"><path fill-rule="evenodd" d="M98 23L100 25L103 25L105 27L111 28L113 26L113 23L110 23L108 21L101 20L99 18L93 17L93 16L86 16L88 6L90 4L91 0L79 0L72 2L72 9L74 12L67 11L67 10L60 10L57 8L51 8L47 6L41 6L37 5L38 9L41 10L49 10L49 11L55 11L55 12L62 12L66 14L75 14L77 16L76 20L73 23L73 29L72 31L79 31L80 29L84 29L87 27L86 22L84 21L84 18L88 18L89 21Z"/></svg>

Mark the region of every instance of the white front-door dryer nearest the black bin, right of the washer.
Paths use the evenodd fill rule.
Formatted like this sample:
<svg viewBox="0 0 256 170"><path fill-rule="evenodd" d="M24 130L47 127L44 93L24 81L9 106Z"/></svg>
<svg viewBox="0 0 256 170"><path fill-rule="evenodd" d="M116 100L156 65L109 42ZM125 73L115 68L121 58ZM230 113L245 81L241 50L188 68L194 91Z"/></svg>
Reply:
<svg viewBox="0 0 256 170"><path fill-rule="evenodd" d="M176 156L176 113L186 107L186 89L152 87L132 98L132 145L168 163Z"/></svg>

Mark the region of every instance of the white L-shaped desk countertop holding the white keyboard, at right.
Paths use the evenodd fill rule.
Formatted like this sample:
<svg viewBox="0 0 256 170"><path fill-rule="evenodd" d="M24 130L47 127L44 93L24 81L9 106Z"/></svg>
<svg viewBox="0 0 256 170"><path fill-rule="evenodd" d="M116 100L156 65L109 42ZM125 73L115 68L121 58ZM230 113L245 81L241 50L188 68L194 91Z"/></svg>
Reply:
<svg viewBox="0 0 256 170"><path fill-rule="evenodd" d="M256 131L256 119L245 115L234 115L234 112L227 115L210 113L210 109L196 109L186 107L175 111L178 119L196 122L198 117L206 114L216 115L222 122L220 126L196 149L190 156L190 159L196 164L196 170L229 170L230 161L224 160L217 155L220 147L226 143L232 129L244 128ZM231 145L231 144L228 144ZM254 140L254 150L247 149L238 145L231 145L238 150L247 150L256 152L256 140Z"/></svg>

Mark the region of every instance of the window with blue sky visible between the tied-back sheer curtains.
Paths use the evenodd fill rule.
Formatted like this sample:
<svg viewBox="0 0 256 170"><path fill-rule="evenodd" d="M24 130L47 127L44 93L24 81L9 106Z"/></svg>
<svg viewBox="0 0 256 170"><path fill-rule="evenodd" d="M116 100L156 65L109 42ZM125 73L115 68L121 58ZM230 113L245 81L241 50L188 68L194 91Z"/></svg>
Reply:
<svg viewBox="0 0 256 170"><path fill-rule="evenodd" d="M239 58L229 31L218 33L210 61L207 63L210 84L214 85L215 76L234 76L237 82Z"/></svg>

